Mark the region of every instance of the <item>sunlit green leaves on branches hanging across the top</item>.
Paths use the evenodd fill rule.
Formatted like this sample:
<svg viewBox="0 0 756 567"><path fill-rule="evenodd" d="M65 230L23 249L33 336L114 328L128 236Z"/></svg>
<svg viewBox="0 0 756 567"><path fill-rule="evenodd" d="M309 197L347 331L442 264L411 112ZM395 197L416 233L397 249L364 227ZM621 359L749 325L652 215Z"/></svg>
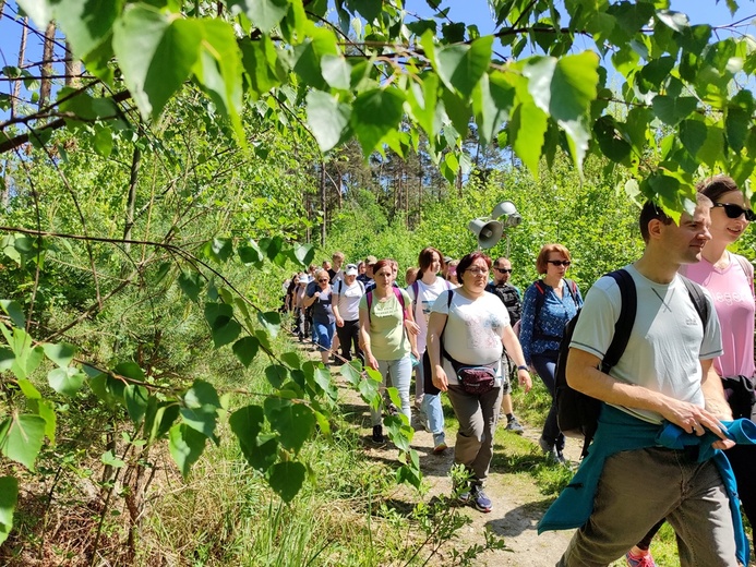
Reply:
<svg viewBox="0 0 756 567"><path fill-rule="evenodd" d="M445 154L460 150L470 123L487 143L506 131L533 173L557 148L578 169L602 154L676 209L701 166L741 184L752 178L752 37L722 39L668 0L490 0L489 36L428 3L435 17L400 0L19 2L40 28L55 19L143 119L193 82L242 145L244 109L269 100L273 120L303 108L300 123L323 152L355 137L365 156L403 155L422 133L449 179L460 159Z"/></svg>

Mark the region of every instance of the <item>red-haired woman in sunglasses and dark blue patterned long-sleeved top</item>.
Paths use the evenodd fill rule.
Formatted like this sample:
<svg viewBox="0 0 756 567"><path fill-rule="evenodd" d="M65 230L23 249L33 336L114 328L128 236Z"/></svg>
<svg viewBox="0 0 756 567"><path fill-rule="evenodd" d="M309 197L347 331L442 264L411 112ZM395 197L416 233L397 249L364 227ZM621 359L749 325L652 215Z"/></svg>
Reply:
<svg viewBox="0 0 756 567"><path fill-rule="evenodd" d="M536 269L543 275L533 282L523 298L519 341L526 364L532 366L551 394L551 408L541 438L541 449L550 458L566 465L564 435L556 423L556 359L567 322L583 305L580 290L565 278L572 263L569 251L562 244L545 244L536 260Z"/></svg>

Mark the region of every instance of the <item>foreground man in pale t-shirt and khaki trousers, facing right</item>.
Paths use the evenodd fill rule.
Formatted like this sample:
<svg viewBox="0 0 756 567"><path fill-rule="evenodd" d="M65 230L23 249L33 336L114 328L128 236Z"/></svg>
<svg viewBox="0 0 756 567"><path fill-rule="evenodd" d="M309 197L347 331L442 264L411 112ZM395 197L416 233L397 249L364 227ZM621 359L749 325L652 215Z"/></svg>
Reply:
<svg viewBox="0 0 756 567"><path fill-rule="evenodd" d="M701 322L677 274L681 265L700 261L711 239L710 208L711 202L699 194L694 213L683 213L675 224L653 203L644 206L640 232L646 249L640 260L625 267L637 290L637 313L624 354L609 374L599 367L614 335L620 289L613 278L603 277L586 297L566 376L573 388L607 406L590 456L578 471L600 466L593 492L584 492L592 497L592 511L559 566L609 565L664 517L676 532L683 565L737 564L721 469L715 459L699 462L698 445L695 451L673 449L658 445L655 437L657 426L661 431L670 422L699 437L713 433L715 448L734 445L720 429L729 408L721 382L711 372L712 360L722 353L715 307L704 292L711 315ZM708 448L711 442L705 443ZM604 459L597 460L598 455ZM571 486L567 491L577 491Z"/></svg>

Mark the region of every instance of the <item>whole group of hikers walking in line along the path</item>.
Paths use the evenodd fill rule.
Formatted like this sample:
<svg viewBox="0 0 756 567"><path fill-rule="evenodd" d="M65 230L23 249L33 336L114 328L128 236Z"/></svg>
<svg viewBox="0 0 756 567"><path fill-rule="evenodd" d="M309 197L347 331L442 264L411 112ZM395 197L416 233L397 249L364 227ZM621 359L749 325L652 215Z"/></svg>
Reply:
<svg viewBox="0 0 756 567"><path fill-rule="evenodd" d="M500 413L521 432L511 382L529 390L532 370L551 394L539 445L554 462L567 462L565 393L589 397L598 410L592 441L539 523L539 532L575 529L557 565L598 567L624 556L632 567L653 567L650 543L663 522L675 531L682 566L747 565L740 508L754 526L756 303L753 266L727 248L756 215L725 176L699 183L689 205L675 220L646 203L643 255L600 278L585 303L565 278L569 252L547 244L536 266L542 278L524 295L508 282L507 258L473 252L451 275L448 258L428 248L406 290L396 287L396 262L369 256L363 273L351 264L341 270L335 254L328 279L315 276L308 287L307 275L292 278L287 304L328 302L327 319L313 310L316 327L350 322L338 334L343 359L353 347L384 385L389 379L408 420L415 365L416 419L436 451L446 449L440 396L447 394L459 422L455 462L470 474L455 493L481 511L492 509L483 486ZM324 363L335 348L329 337L315 331ZM372 438L383 442L381 414L372 420Z"/></svg>

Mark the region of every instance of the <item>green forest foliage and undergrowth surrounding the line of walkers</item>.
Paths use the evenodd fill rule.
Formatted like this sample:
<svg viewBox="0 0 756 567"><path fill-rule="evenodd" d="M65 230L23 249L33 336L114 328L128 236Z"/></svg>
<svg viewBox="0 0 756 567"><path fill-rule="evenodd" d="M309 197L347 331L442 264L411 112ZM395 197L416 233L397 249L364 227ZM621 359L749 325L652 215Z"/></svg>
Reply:
<svg viewBox="0 0 756 567"><path fill-rule="evenodd" d="M509 200L524 221L489 253L525 288L561 242L587 290L639 254L644 198L679 214L716 172L751 197L756 44L747 10L706 4L731 22L660 0L492 0L485 33L435 2L0 1L2 560L472 560L409 424L387 421L397 460L369 458L280 333L281 282L336 250L459 257ZM340 375L382 403L375 373ZM544 393L518 401L538 425ZM548 496L568 480L529 467Z"/></svg>

